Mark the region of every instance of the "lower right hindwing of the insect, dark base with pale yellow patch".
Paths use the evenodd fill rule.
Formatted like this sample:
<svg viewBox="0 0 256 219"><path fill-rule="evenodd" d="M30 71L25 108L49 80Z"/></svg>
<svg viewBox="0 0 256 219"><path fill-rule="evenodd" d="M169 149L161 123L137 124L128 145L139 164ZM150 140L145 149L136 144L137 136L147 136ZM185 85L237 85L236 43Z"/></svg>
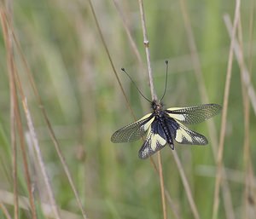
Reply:
<svg viewBox="0 0 256 219"><path fill-rule="evenodd" d="M168 127L171 130L172 138L180 144L207 145L208 141L204 135L189 130L183 124L172 118L168 119Z"/></svg>

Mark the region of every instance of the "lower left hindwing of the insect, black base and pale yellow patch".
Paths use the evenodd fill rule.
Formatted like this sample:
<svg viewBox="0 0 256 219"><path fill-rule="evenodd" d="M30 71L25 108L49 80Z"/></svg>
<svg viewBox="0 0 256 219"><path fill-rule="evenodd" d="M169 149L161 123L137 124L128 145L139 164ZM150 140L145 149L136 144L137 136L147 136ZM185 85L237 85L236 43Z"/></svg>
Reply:
<svg viewBox="0 0 256 219"><path fill-rule="evenodd" d="M148 135L139 150L139 158L148 158L152 154L166 146L166 134L160 124L160 121L154 120L148 129Z"/></svg>

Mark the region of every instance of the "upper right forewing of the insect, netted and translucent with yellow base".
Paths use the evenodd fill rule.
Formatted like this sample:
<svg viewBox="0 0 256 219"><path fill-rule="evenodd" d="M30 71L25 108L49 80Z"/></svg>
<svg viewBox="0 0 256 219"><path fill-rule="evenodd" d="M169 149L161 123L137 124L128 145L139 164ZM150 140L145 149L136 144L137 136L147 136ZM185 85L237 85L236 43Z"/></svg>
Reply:
<svg viewBox="0 0 256 219"><path fill-rule="evenodd" d="M198 124L218 114L222 109L218 104L203 104L194 107L172 107L167 114L184 124Z"/></svg>

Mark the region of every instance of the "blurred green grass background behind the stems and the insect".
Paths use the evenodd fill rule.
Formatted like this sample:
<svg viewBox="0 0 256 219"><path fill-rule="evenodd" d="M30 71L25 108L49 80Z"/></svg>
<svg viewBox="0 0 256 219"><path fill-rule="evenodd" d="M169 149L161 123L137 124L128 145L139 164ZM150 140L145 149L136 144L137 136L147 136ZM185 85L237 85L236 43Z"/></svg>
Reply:
<svg viewBox="0 0 256 219"><path fill-rule="evenodd" d="M92 3L125 94L136 117L141 118L145 113L150 112L150 106L119 70L125 67L131 78L142 89L143 94L150 98L138 3L117 1L119 9L116 8L115 1L96 0ZM186 4L209 101L222 105L230 49L230 37L223 17L224 14L230 14L233 20L235 1L195 0L187 1ZM249 25L252 7L255 18L253 0L242 1L241 28L246 65L249 65L252 59L252 69L255 69L255 28L251 39ZM204 103L200 97L201 84L198 84L195 78L180 2L146 0L144 9L157 95L161 96L163 93L165 61L168 60L169 78L164 99L166 107L185 107ZM142 62L138 61L134 50L131 49L120 14L131 31ZM115 130L134 120L114 76L89 2L15 1L13 25L87 216L91 219L161 218L159 178L149 159L141 160L137 157L143 141L125 144L113 144L110 141ZM9 78L2 29L1 33L0 189L12 192ZM250 55L251 49L253 57ZM17 49L15 49L15 58L57 205L64 210L80 214ZM252 73L252 84L256 84L254 73ZM228 182L236 218L242 217L244 206L242 102L240 69L235 58L224 142L224 165L228 168ZM21 107L20 109L22 111ZM221 115L212 119L219 136ZM255 114L251 110L250 146L254 166L256 164L255 122ZM209 138L206 123L189 128ZM27 130L25 117L24 129ZM211 141L207 147L176 145L176 150L188 177L201 218L210 218L216 168ZM22 188L20 194L27 196L20 150L18 153L19 182ZM166 189L172 199L171 204L167 202L168 218L175 218L172 208L177 210L179 218L192 218L170 148L164 148L161 154ZM226 218L222 193L220 197L218 218ZM12 209L11 205L9 208ZM20 218L26 216L26 212L21 210Z"/></svg>

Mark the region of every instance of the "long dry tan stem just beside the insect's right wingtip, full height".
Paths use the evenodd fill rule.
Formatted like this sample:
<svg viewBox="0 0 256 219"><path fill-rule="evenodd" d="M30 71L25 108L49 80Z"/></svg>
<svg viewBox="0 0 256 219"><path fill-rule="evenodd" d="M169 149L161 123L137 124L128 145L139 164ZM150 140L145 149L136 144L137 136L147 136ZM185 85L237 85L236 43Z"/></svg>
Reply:
<svg viewBox="0 0 256 219"><path fill-rule="evenodd" d="M230 80L232 75L232 61L233 61L233 54L234 54L233 48L235 44L236 28L238 26L239 15L240 15L240 0L236 0L235 18L234 18L234 25L232 29L232 35L231 35L230 54L229 54L228 69L227 69L225 88L224 88L223 113L222 113L222 119L221 119L221 130L220 130L220 139L218 144L218 157L217 157L218 170L217 170L217 175L215 180L212 219L218 218L219 186L221 183L222 169L223 169L224 137L225 137L225 131L226 131L228 103L229 103L229 96L230 96Z"/></svg>

